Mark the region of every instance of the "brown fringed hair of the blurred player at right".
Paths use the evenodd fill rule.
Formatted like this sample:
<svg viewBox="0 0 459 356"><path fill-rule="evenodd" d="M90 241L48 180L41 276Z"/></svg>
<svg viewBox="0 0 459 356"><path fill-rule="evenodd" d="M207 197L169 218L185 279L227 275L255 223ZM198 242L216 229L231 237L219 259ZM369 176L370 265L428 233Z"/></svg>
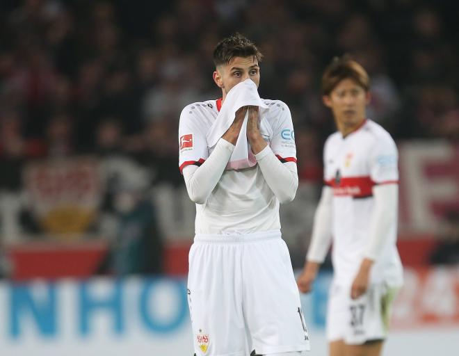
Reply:
<svg viewBox="0 0 459 356"><path fill-rule="evenodd" d="M325 68L322 76L322 94L330 95L335 86L343 79L352 79L366 92L370 90L370 79L364 67L353 60L350 56L333 58Z"/></svg>

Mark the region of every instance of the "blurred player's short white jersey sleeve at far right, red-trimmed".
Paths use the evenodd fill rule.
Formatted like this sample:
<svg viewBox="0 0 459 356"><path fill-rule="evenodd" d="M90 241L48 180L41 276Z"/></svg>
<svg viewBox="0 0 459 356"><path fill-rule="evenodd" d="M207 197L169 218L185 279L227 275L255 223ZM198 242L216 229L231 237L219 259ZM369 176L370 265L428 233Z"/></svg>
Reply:
<svg viewBox="0 0 459 356"><path fill-rule="evenodd" d="M369 155L370 177L375 184L398 183L398 152L389 133L379 137Z"/></svg>

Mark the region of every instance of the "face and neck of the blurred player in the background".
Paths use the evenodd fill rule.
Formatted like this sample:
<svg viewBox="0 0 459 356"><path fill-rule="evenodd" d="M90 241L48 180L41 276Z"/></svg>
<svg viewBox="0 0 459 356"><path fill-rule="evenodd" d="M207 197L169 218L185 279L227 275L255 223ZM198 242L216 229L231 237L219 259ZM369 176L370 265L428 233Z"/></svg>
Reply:
<svg viewBox="0 0 459 356"><path fill-rule="evenodd" d="M365 120L369 93L352 79L343 79L323 102L332 110L339 131L346 135Z"/></svg>

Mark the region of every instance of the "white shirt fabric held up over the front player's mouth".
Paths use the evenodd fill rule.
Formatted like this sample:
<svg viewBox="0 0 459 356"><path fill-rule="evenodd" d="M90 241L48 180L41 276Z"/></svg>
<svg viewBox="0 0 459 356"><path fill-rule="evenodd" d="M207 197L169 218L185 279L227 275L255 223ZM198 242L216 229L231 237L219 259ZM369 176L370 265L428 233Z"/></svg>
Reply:
<svg viewBox="0 0 459 356"><path fill-rule="evenodd" d="M249 105L268 108L258 95L257 85L251 79L245 79L245 81L241 81L241 83L231 88L230 92L228 92L225 97L225 102L223 102L217 119L207 132L207 143L209 147L214 147L220 137L230 128L231 124L234 122L234 118L236 118L236 111L243 106ZM252 149L250 149L250 144L247 140L247 121L248 111L245 113L236 147L227 164L227 169L240 170L253 167L257 164L255 155ZM263 116L261 117L260 131L266 135L271 131L271 128L268 126Z"/></svg>

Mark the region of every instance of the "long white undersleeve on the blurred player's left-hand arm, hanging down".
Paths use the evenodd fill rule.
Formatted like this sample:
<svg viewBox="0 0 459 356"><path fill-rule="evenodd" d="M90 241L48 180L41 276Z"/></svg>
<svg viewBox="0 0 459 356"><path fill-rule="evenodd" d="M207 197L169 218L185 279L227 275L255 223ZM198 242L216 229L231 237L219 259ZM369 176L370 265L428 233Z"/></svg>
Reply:
<svg viewBox="0 0 459 356"><path fill-rule="evenodd" d="M322 263L332 241L332 188L322 188L321 200L314 214L311 242L307 249L307 261Z"/></svg>

